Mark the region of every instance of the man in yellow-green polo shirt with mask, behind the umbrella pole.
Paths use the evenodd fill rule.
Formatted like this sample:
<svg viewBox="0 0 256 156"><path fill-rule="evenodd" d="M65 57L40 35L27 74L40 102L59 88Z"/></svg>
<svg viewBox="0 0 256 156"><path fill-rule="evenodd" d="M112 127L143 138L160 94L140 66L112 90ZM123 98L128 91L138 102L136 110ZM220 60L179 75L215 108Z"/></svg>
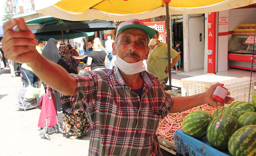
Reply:
<svg viewBox="0 0 256 156"><path fill-rule="evenodd" d="M162 43L158 40L159 32L157 30L154 31L156 34L150 43L147 67L149 72L152 72L158 77L158 79L160 79L163 84L166 84L168 82L168 46L166 43ZM174 65L178 62L180 55L171 47L170 49L171 58L173 59L171 68L173 68Z"/></svg>

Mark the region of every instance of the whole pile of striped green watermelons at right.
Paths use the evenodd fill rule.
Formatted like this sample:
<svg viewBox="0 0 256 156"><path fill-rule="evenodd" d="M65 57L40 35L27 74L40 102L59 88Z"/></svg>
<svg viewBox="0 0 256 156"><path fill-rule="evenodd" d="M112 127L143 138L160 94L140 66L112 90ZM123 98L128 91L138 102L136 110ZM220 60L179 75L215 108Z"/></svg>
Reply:
<svg viewBox="0 0 256 156"><path fill-rule="evenodd" d="M193 111L182 125L185 134L197 139L206 136L212 147L228 150L232 156L256 156L256 92L251 103L236 101L219 108L218 117L216 111L212 115Z"/></svg>

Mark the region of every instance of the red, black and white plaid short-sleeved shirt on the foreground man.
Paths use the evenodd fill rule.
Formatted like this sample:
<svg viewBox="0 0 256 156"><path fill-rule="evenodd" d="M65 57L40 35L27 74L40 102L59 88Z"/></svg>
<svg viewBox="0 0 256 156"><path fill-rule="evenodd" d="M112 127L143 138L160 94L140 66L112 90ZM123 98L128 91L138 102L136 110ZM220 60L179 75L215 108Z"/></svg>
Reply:
<svg viewBox="0 0 256 156"><path fill-rule="evenodd" d="M173 99L156 76L140 74L144 80L141 99L125 84L117 67L72 74L77 81L75 96L61 100L69 103L64 109L89 114L89 156L162 155L156 131L160 119L172 109Z"/></svg>

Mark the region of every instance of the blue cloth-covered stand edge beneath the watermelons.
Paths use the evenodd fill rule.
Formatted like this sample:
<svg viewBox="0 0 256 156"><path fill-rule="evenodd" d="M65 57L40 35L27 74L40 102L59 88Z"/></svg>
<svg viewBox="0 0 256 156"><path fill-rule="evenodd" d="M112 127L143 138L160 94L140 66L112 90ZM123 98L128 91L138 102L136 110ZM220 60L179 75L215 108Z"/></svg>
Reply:
<svg viewBox="0 0 256 156"><path fill-rule="evenodd" d="M190 156L230 156L228 151L219 151L211 147L206 138L200 140L176 130L173 136L177 154Z"/></svg>

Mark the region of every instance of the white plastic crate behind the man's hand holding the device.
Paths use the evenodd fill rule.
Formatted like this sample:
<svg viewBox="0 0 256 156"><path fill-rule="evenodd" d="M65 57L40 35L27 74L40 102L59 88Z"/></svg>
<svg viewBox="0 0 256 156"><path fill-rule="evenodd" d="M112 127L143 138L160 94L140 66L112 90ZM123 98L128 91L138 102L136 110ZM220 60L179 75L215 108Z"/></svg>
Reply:
<svg viewBox="0 0 256 156"><path fill-rule="evenodd" d="M212 73L181 79L181 94L182 96L191 96L198 93L203 93L212 84L217 82L224 84L224 87L228 89L230 96L235 98L235 101L248 101L249 92L249 101L252 101L252 95L254 92L253 78L251 80L251 90L249 91L250 77L237 78L229 76L218 76Z"/></svg>

